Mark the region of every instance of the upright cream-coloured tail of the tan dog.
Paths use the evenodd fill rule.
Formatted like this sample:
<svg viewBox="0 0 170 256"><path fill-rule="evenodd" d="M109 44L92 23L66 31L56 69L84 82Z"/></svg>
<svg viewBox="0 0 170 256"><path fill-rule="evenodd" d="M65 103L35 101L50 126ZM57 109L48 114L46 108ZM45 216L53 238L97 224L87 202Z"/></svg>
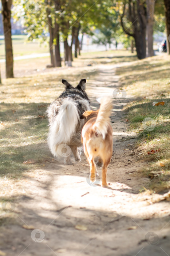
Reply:
<svg viewBox="0 0 170 256"><path fill-rule="evenodd" d="M110 114L112 109L112 98L103 97L101 99L101 104L98 112L94 128L98 128L100 133L102 133L103 139L105 139L108 124L110 123Z"/></svg>

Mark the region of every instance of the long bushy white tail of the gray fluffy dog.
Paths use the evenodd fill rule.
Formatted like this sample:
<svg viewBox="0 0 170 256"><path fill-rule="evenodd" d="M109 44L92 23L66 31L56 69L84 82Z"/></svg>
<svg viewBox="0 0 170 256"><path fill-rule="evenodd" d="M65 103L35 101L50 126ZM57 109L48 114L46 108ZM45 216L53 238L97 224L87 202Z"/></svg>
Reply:
<svg viewBox="0 0 170 256"><path fill-rule="evenodd" d="M58 156L57 146L70 142L71 136L76 132L78 121L79 114L76 105L72 101L65 100L48 135L48 144L54 156Z"/></svg>

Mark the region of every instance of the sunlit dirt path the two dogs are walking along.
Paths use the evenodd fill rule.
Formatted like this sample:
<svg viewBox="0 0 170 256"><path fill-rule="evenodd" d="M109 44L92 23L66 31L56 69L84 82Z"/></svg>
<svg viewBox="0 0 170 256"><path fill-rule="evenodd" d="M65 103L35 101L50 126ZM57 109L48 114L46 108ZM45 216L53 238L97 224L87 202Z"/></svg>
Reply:
<svg viewBox="0 0 170 256"><path fill-rule="evenodd" d="M99 74L87 84L94 109L99 107L96 97L115 95L118 86L114 67L98 68ZM127 131L122 110L130 100L130 95L114 99L109 187L88 184L90 169L84 154L80 163L66 166L55 160L32 177L25 176L20 183L24 195L9 213L16 222L1 228L4 254L0 255L170 255L170 205L164 201L152 204L159 195L139 193L150 180L139 173L146 164L138 160L139 153L130 155L136 135ZM46 145L44 150L48 151ZM101 177L101 168L98 172Z"/></svg>

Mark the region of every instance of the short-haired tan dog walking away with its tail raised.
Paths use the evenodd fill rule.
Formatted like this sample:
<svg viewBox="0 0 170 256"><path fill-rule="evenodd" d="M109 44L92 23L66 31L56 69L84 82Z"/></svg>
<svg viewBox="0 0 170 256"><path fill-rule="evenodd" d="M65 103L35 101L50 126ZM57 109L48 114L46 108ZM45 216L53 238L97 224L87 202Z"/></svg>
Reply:
<svg viewBox="0 0 170 256"><path fill-rule="evenodd" d="M97 165L102 167L102 186L107 187L106 172L107 166L112 157L112 128L110 125L110 112L112 99L104 97L101 100L100 109L97 111L87 110L80 117L85 118L82 129L82 143L84 154L90 164L91 181L96 180L97 169L94 162L99 157Z"/></svg>

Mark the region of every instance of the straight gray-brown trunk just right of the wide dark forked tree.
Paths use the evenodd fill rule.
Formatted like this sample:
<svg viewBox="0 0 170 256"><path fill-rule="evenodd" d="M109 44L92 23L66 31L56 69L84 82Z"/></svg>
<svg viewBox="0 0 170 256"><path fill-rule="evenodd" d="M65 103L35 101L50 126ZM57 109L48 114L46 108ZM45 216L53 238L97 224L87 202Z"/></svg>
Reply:
<svg viewBox="0 0 170 256"><path fill-rule="evenodd" d="M153 25L154 25L154 8L155 0L146 0L146 13L147 13L147 56L154 56L153 50Z"/></svg>

